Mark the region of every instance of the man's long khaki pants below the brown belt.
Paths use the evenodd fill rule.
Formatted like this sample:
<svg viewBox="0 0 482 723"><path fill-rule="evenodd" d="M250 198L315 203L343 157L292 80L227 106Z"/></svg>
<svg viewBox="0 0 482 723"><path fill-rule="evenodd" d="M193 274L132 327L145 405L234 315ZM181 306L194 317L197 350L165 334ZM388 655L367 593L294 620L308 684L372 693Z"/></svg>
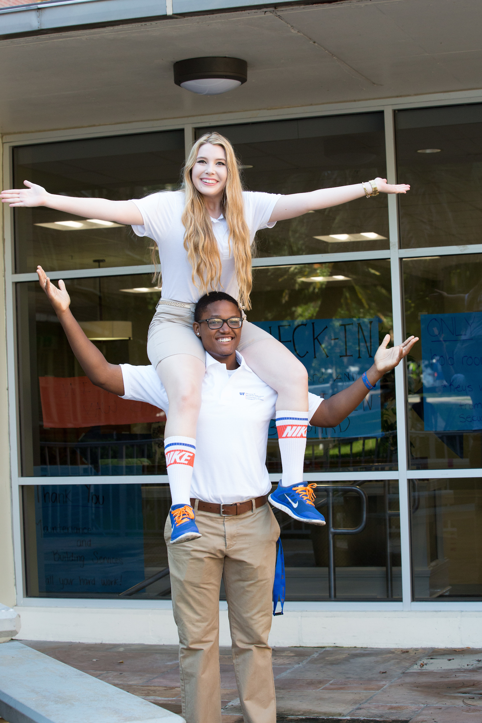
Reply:
<svg viewBox="0 0 482 723"><path fill-rule="evenodd" d="M270 505L238 516L198 512L200 539L171 545L165 523L186 723L220 723L219 590L223 577L245 723L275 723L268 635L280 527Z"/></svg>

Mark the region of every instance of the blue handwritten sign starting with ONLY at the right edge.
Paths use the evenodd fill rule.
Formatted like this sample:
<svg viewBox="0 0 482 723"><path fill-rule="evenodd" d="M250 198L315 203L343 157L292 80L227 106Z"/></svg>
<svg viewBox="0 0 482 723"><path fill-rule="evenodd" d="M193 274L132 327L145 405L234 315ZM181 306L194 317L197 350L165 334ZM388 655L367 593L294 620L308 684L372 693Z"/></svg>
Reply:
<svg viewBox="0 0 482 723"><path fill-rule="evenodd" d="M482 429L482 312L422 314L423 427Z"/></svg>

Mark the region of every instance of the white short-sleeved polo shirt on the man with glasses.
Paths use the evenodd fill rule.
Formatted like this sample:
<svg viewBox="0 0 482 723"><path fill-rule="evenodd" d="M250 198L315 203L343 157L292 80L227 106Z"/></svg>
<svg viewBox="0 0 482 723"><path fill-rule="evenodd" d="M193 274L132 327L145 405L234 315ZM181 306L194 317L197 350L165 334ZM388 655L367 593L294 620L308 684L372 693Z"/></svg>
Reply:
<svg viewBox="0 0 482 723"><path fill-rule="evenodd" d="M277 393L249 369L238 351L236 358L240 366L228 372L225 364L206 353L191 481L191 497L205 502L242 502L271 491L266 445ZM148 402L167 414L168 397L155 369L120 366L123 398ZM308 419L322 401L309 394Z"/></svg>

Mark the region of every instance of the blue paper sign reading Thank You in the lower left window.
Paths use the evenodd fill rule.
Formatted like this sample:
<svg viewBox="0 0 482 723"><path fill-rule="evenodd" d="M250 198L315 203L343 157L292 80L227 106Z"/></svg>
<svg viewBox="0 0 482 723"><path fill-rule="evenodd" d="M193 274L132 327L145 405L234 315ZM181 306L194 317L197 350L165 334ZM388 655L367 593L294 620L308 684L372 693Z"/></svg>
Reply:
<svg viewBox="0 0 482 723"><path fill-rule="evenodd" d="M145 579L140 484L35 487L40 593L104 593Z"/></svg>

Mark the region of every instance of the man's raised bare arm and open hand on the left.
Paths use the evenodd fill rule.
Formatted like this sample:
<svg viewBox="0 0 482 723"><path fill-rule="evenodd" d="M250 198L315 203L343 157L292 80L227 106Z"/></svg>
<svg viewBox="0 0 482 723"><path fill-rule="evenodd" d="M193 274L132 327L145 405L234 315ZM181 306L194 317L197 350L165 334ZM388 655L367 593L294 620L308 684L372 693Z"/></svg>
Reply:
<svg viewBox="0 0 482 723"><path fill-rule="evenodd" d="M79 327L79 324L70 311L70 296L67 294L65 284L59 281L59 288L53 286L47 278L41 266L37 267L38 281L43 291L46 292L48 301L51 302L59 322L64 328L66 337L77 356L80 366L96 387L112 392L119 397L124 396L124 378L119 364L109 364L105 356L87 339L87 336Z"/></svg>

